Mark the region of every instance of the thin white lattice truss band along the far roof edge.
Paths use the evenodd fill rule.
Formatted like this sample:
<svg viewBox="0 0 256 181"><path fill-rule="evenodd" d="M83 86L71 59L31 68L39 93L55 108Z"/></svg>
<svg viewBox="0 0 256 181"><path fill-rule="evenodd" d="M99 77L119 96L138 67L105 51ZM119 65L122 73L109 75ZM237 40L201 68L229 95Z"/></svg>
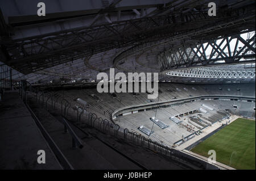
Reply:
<svg viewBox="0 0 256 181"><path fill-rule="evenodd" d="M212 68L187 68L180 70L173 70L166 73L167 75L176 77L194 77L194 78L255 78L255 66L254 68L240 68L236 67L221 68L220 66Z"/></svg>

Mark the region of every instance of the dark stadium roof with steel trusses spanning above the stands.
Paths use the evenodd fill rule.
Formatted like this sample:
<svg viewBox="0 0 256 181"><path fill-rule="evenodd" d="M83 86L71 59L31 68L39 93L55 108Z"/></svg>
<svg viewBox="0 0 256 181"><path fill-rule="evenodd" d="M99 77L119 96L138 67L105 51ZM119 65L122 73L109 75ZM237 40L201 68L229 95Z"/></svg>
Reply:
<svg viewBox="0 0 256 181"><path fill-rule="evenodd" d="M0 1L0 64L15 69L13 79L49 83L90 82L109 68L166 73L255 63L255 1L216 1L217 16L208 16L209 2L45 0L47 15L39 17L35 1Z"/></svg>

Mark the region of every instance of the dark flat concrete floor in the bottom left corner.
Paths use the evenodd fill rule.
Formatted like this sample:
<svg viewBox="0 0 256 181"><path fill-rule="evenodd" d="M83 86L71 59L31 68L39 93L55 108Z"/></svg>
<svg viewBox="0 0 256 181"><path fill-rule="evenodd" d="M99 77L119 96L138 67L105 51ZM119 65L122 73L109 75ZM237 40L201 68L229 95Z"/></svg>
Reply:
<svg viewBox="0 0 256 181"><path fill-rule="evenodd" d="M18 92L5 92L0 102L0 169L62 169ZM39 164L38 150L46 152Z"/></svg>

